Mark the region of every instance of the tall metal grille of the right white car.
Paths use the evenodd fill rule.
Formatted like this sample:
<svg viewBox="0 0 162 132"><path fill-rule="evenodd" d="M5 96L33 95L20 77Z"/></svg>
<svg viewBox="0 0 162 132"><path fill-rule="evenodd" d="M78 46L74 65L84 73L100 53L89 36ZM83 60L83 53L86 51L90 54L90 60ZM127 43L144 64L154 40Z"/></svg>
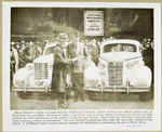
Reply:
<svg viewBox="0 0 162 132"><path fill-rule="evenodd" d="M123 75L122 62L108 63L109 85L122 85L122 75Z"/></svg>

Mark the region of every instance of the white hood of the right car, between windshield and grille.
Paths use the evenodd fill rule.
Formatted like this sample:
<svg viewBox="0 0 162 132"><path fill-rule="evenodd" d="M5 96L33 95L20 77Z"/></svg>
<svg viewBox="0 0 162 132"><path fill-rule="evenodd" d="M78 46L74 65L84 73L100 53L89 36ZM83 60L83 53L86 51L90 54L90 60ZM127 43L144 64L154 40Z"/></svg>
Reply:
<svg viewBox="0 0 162 132"><path fill-rule="evenodd" d="M100 58L106 60L108 62L123 62L123 61L127 61L127 60L133 60L133 58L137 58L140 57L141 54L140 53L123 53L123 52L114 52L114 53L104 53Z"/></svg>

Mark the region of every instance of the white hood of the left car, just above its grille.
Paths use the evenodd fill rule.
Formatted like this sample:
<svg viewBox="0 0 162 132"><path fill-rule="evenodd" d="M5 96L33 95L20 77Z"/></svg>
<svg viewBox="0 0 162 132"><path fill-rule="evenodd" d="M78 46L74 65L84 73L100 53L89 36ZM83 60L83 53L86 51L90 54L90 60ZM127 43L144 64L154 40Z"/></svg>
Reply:
<svg viewBox="0 0 162 132"><path fill-rule="evenodd" d="M43 55L40 57L37 57L33 63L53 63L54 61L54 55L50 54L50 55Z"/></svg>

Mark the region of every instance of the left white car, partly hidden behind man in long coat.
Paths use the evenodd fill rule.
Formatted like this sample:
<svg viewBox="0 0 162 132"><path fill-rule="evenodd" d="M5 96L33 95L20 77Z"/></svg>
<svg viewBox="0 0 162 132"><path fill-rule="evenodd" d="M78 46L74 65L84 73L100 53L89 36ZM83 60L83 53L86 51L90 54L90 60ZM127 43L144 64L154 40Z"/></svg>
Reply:
<svg viewBox="0 0 162 132"><path fill-rule="evenodd" d="M27 98L31 92L52 92L51 82L55 47L56 42L48 44L41 56L15 72L12 91L17 91L21 98Z"/></svg>

